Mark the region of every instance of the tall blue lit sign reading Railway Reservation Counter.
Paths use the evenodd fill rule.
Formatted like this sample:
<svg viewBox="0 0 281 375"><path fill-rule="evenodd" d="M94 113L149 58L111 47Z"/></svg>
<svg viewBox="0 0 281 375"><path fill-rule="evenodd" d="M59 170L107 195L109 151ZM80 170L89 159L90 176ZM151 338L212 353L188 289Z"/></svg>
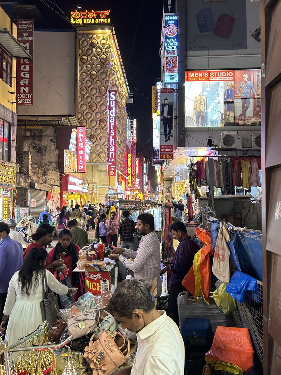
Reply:
<svg viewBox="0 0 281 375"><path fill-rule="evenodd" d="M165 14L165 82L178 82L178 16Z"/></svg>

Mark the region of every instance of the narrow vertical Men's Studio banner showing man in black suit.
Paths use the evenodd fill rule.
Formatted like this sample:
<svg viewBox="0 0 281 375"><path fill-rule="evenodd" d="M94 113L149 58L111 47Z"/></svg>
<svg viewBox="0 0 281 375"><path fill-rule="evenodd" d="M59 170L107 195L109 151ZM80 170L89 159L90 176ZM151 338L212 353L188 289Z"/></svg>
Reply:
<svg viewBox="0 0 281 375"><path fill-rule="evenodd" d="M174 89L160 92L160 160L173 159Z"/></svg>

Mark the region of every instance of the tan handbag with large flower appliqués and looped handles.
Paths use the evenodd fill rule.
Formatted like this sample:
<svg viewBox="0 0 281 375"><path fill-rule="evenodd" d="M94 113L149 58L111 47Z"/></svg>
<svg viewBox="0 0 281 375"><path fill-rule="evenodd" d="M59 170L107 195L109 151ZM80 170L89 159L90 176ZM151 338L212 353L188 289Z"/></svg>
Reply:
<svg viewBox="0 0 281 375"><path fill-rule="evenodd" d="M123 365L130 353L130 341L120 332L103 331L96 341L90 341L85 347L93 375L109 375Z"/></svg>

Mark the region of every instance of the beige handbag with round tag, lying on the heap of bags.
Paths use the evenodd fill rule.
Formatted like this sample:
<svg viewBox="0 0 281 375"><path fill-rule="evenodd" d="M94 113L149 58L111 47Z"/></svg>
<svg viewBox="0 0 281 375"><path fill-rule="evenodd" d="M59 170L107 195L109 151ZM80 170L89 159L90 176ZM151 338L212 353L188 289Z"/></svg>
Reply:
<svg viewBox="0 0 281 375"><path fill-rule="evenodd" d="M91 314L93 311L96 311L96 309L81 312L67 321L68 334L71 335L73 339L89 335L96 329L96 320Z"/></svg>

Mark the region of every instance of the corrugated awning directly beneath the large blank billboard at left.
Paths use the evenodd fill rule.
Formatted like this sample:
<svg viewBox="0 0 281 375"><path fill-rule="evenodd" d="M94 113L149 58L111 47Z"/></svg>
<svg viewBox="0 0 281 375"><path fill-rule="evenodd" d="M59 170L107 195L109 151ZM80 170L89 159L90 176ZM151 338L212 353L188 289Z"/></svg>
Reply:
<svg viewBox="0 0 281 375"><path fill-rule="evenodd" d="M79 126L74 115L51 115L51 116L37 116L37 115L18 115L16 119L16 126L25 129L45 129L48 126ZM71 131L70 131L71 133Z"/></svg>

